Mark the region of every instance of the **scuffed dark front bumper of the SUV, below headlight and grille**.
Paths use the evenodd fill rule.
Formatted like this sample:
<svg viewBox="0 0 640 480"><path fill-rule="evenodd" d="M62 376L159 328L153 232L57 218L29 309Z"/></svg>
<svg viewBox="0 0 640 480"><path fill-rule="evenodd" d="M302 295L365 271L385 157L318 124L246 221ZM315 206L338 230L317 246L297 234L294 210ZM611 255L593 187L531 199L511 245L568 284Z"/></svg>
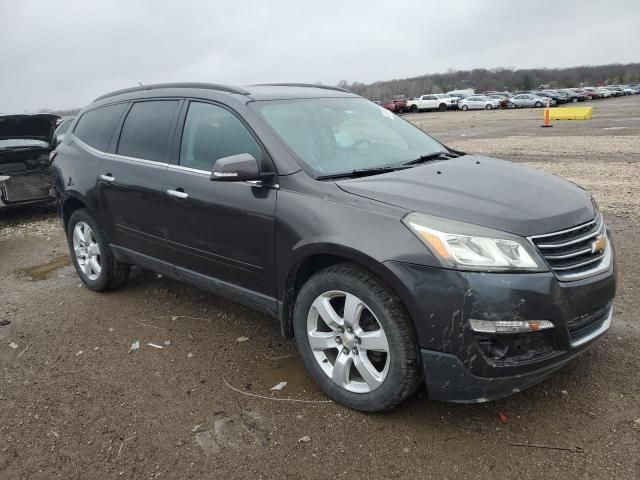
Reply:
<svg viewBox="0 0 640 480"><path fill-rule="evenodd" d="M385 264L400 281L433 399L476 402L521 391L594 345L611 323L615 262L573 282L558 281L551 272L489 274ZM486 335L472 331L472 318L549 320L554 328Z"/></svg>

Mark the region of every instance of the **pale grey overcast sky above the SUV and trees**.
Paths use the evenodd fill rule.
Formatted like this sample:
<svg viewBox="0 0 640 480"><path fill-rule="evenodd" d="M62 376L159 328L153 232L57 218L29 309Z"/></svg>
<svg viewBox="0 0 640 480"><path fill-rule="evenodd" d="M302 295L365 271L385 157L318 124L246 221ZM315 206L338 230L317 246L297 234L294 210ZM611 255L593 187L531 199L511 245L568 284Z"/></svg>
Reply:
<svg viewBox="0 0 640 480"><path fill-rule="evenodd" d="M0 0L0 112L137 82L371 82L640 61L640 0Z"/></svg>

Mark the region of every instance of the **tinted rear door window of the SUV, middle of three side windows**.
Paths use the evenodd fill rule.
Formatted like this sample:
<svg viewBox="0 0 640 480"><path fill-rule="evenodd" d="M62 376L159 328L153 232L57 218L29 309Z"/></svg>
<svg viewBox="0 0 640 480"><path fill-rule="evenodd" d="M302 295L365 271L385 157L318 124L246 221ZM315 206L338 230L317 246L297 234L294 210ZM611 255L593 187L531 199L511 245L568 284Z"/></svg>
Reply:
<svg viewBox="0 0 640 480"><path fill-rule="evenodd" d="M176 100L134 103L122 126L118 154L166 162L169 130L178 107Z"/></svg>

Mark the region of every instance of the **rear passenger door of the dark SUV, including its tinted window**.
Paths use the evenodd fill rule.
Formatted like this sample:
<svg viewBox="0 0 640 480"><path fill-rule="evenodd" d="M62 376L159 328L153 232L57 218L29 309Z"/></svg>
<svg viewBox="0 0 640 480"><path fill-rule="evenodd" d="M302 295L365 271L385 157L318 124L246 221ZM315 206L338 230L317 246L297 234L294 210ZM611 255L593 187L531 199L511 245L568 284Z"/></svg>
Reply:
<svg viewBox="0 0 640 480"><path fill-rule="evenodd" d="M130 105L98 173L100 209L120 247L167 260L163 184L181 100Z"/></svg>

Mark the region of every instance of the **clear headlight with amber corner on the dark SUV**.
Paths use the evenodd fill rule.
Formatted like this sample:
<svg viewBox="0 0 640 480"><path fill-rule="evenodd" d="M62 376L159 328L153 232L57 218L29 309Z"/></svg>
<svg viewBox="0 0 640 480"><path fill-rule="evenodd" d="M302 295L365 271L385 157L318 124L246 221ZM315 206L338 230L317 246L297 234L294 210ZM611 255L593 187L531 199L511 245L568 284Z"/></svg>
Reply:
<svg viewBox="0 0 640 480"><path fill-rule="evenodd" d="M517 235L415 212L402 222L449 268L547 270L531 244Z"/></svg>

